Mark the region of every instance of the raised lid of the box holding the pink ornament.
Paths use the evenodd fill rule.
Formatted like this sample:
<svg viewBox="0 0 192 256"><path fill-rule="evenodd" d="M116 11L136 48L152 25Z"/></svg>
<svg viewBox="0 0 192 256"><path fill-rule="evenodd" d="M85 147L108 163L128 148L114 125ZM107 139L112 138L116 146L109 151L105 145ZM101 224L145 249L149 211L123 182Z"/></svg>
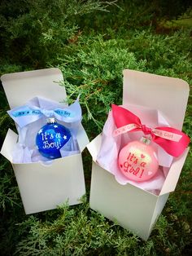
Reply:
<svg viewBox="0 0 192 256"><path fill-rule="evenodd" d="M124 69L123 104L158 109L170 126L179 130L183 125L189 91L188 83L181 79Z"/></svg>

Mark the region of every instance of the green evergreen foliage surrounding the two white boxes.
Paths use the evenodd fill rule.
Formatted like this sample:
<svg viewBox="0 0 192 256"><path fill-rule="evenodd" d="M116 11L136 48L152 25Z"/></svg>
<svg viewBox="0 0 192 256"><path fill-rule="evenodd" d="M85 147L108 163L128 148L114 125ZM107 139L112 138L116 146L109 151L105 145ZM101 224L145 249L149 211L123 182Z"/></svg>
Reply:
<svg viewBox="0 0 192 256"><path fill-rule="evenodd" d="M118 5L118 7L116 6ZM80 95L83 125L94 139L111 103L122 102L124 68L179 77L192 84L188 1L28 1L0 3L0 73L58 67L68 102ZM188 20L189 21L189 20ZM0 90L0 140L15 129ZM163 100L163 99L162 99ZM190 95L184 130L192 137ZM91 157L83 152L89 198ZM25 215L11 164L0 158L0 241L3 255L190 255L192 152L151 237L142 241L81 205ZM142 213L141 213L142 214Z"/></svg>

